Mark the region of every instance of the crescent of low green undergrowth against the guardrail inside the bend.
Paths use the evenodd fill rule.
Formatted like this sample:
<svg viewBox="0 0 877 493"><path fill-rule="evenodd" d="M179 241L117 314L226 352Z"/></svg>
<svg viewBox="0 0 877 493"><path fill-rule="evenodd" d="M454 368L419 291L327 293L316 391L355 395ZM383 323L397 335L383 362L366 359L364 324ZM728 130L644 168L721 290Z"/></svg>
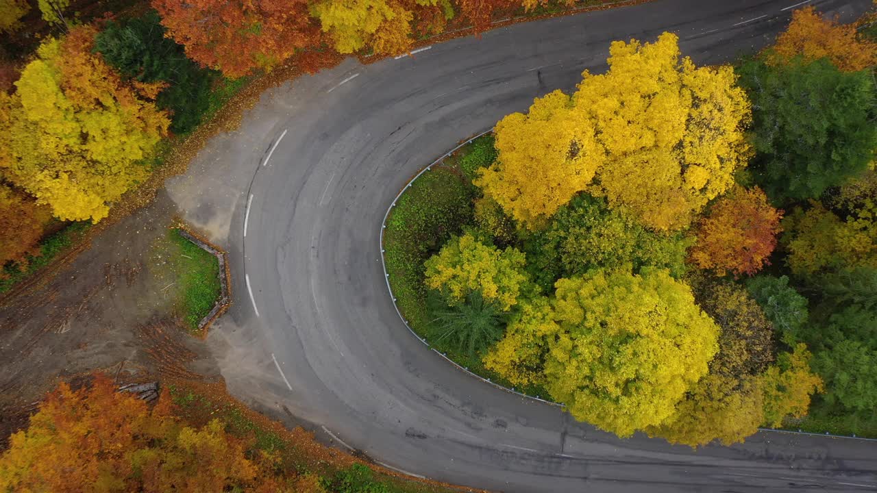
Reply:
<svg viewBox="0 0 877 493"><path fill-rule="evenodd" d="M424 327L424 261L472 223L473 189L447 168L432 168L411 184L387 218L384 260L399 310Z"/></svg>

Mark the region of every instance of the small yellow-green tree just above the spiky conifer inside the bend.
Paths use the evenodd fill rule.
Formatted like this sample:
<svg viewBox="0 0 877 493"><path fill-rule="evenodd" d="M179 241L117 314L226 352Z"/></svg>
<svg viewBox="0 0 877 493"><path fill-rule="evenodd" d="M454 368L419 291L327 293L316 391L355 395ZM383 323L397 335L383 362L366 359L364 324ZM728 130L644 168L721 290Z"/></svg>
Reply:
<svg viewBox="0 0 877 493"><path fill-rule="evenodd" d="M512 247L500 250L484 245L470 233L450 239L424 267L426 286L438 289L452 306L479 291L485 301L507 311L517 304L527 283L524 254Z"/></svg>

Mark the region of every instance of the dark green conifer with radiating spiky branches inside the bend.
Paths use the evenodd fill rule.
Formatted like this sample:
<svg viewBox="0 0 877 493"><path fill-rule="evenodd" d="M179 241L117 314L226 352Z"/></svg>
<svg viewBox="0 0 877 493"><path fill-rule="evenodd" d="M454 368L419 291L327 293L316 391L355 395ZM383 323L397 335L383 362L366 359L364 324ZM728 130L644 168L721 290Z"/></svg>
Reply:
<svg viewBox="0 0 877 493"><path fill-rule="evenodd" d="M449 307L440 296L429 297L429 340L474 358L503 336L503 311L473 291L465 303Z"/></svg>

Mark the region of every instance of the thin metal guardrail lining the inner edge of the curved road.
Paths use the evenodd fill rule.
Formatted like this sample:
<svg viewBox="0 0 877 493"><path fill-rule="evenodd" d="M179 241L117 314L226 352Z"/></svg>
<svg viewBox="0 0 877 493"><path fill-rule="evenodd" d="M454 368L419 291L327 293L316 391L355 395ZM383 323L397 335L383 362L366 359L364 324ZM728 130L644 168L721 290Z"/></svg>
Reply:
<svg viewBox="0 0 877 493"><path fill-rule="evenodd" d="M432 162L430 163L429 166L427 166L426 168L421 169L420 172L417 173L417 175L414 175L413 178L411 178L407 183L405 183L405 186L404 186L401 190L399 190L399 193L396 194L396 197L395 197L395 198L393 198L393 203L390 204L389 208L387 208L387 211L384 213L383 220L381 221L381 239L380 239L380 242L381 242L381 243L380 243L380 247L381 247L381 268L383 269L383 273L384 273L384 281L387 282L387 290L389 291L389 297L390 297L390 299L393 300L393 308L396 309L396 314L399 315L399 318L402 320L402 323L405 325L405 328L408 329L408 332L411 332L411 335L413 335L414 337L416 337L417 339L419 339L420 342L423 342L424 345L425 345L426 347L429 347L429 348L430 348L435 354L439 354L439 356L441 356L442 358L444 358L446 361L450 362L454 367L460 369L460 370L463 371L463 372L466 372L467 375L474 376L474 377L477 378L478 380L481 380L481 382L487 382L487 383L489 383L490 385L493 385L494 387L496 387L497 389L505 390L506 392L510 392L511 394L515 394L515 395L517 395L517 396L519 396L519 397L530 398L530 399L533 399L533 400L539 401L539 402L544 403L544 404L549 404L549 405L553 405L553 406L557 406L557 407L561 407L561 408L562 408L562 407L565 407L564 404L555 403L555 402L553 402L553 401L548 401L548 400L545 400L545 399L543 399L543 398L541 398L541 397L538 397L538 396L530 396L530 395L524 394L523 392L518 392L516 389L510 389L510 388L508 388L508 387L505 387L505 386L503 386L503 385L500 385L499 383L491 382L489 378L484 378L484 377L481 376L481 375L477 375L477 374L475 374L475 373L469 371L468 368L461 367L456 361L453 361L451 358L448 358L446 354L441 353L441 352L440 352L438 349L436 349L435 347L431 347L430 343L429 343L425 338L420 337L420 335L418 335L417 332L414 332L414 330L411 329L410 325L408 325L408 320L405 319L405 317L404 317L403 314L402 314L402 311L399 311L399 306L396 304L396 296L393 295L393 287L390 286L390 283L389 283L389 273L387 272L387 261L384 260L383 232L384 232L385 229L387 229L387 218L389 218L389 212L392 211L394 207L396 207L396 203L399 201L399 197L401 197L402 194L405 193L405 190L410 189L410 187L411 187L411 183L417 181L417 178L419 178L420 175L423 175L423 174L426 173L427 171L431 171L431 168L432 168L433 166L439 164L441 161L444 161L448 156L450 156L451 154L453 154L453 153L457 152L458 150L460 150L461 147L463 147L463 146L467 146L468 144L471 144L472 141L473 141L474 139L478 139L478 138L481 137L482 135L487 135L488 133L493 132L493 130L494 130L493 128L490 128L490 129L488 129L488 130L486 130L486 131L484 131L484 132L478 133L478 134L474 135L473 137L467 139L465 142L463 142L463 143L460 144L459 146L456 146L456 147L454 147L453 149L451 149L450 151L448 151L447 153L442 154L441 157L439 157L439 159L437 159L437 160L435 160L435 161L432 161ZM877 441L877 439L869 439L869 438L864 438L864 437L857 437L855 434L853 434L852 436L849 436L849 435L835 435L835 434L830 433L830 432L824 432L824 433L802 432L801 430L798 430L798 431L795 431L795 430L783 430L783 429L778 429L778 428L759 428L759 432L794 433L794 434L800 434L800 435L812 435L812 436L819 436L819 437L826 437L826 436L827 436L827 437L838 438L838 439L860 439L860 440Z"/></svg>

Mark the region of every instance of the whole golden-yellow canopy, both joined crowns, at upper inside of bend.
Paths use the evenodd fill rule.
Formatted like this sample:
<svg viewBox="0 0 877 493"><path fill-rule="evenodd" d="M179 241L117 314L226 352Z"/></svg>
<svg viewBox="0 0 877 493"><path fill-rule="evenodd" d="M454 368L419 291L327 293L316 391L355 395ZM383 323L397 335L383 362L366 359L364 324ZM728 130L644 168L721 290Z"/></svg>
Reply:
<svg viewBox="0 0 877 493"><path fill-rule="evenodd" d="M531 228L590 188L653 229L680 229L745 166L750 109L730 67L696 68L668 32L616 41L608 62L573 96L496 125L498 160L475 183Z"/></svg>

